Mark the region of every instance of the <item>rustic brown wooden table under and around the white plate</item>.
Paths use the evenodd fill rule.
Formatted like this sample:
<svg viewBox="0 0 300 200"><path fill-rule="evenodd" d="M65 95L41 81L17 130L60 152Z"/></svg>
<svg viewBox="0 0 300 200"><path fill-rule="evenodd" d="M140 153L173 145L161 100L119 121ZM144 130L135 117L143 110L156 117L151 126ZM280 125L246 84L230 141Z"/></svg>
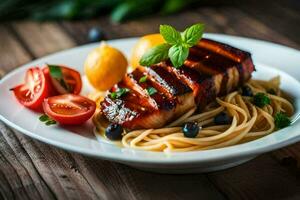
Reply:
<svg viewBox="0 0 300 200"><path fill-rule="evenodd" d="M200 7L124 24L111 24L107 17L2 23L0 76L35 58L86 43L93 26L101 26L107 39L114 39L157 32L163 23L183 29L204 22L207 32L259 38L299 49L299 1L272 2ZM0 130L1 199L300 199L300 143L228 170L162 175L66 152L15 132L2 122Z"/></svg>

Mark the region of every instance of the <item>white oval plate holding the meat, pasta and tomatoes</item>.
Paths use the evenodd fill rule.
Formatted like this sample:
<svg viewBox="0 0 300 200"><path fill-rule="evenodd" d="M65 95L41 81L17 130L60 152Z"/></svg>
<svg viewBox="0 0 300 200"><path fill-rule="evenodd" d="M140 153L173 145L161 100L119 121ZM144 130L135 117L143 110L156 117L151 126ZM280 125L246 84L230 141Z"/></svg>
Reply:
<svg viewBox="0 0 300 200"><path fill-rule="evenodd" d="M296 113L293 116L292 126L259 140L222 149L171 154L146 152L121 148L102 140L97 141L92 134L91 123L68 129L59 126L47 127L38 120L39 114L22 107L9 91L9 88L23 81L26 69L33 65L65 64L82 73L83 62L88 52L98 44L85 45L40 58L5 76L0 82L0 119L12 128L45 143L161 173L192 173L224 169L245 162L258 154L299 141L300 120L296 121L296 118L300 112L300 84L296 79L300 80L300 52L281 45L241 37L219 34L207 34L206 37L250 51L257 67L255 78L269 79L276 75L281 76L282 89L294 97ZM131 47L135 42L136 38L108 41L127 56L130 55ZM89 88L86 86L84 92L87 90Z"/></svg>

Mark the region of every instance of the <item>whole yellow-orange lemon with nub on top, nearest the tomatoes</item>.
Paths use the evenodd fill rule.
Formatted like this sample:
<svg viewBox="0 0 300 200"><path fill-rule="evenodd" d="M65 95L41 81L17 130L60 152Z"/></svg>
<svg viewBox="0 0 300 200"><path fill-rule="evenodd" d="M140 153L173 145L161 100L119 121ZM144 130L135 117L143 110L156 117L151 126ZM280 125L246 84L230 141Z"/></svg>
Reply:
<svg viewBox="0 0 300 200"><path fill-rule="evenodd" d="M127 66L127 59L121 51L102 42L87 56L84 72L92 86L106 91L122 80Z"/></svg>

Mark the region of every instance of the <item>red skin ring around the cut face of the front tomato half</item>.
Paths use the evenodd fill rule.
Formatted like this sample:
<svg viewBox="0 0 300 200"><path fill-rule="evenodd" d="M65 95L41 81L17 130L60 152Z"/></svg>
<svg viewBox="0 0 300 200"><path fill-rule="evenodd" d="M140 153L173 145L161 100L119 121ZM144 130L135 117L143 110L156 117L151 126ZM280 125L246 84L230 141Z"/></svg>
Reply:
<svg viewBox="0 0 300 200"><path fill-rule="evenodd" d="M53 98L61 98L64 99L64 96L66 95L72 95L76 97L83 98L85 101L88 101L91 105L90 109L86 113L82 114L76 114L76 115L63 115L63 114L57 114L54 111L52 111L50 106L50 101L52 101ZM52 98L52 99L51 99ZM82 97L80 95L73 95L73 94L65 94L65 95L59 95L54 97L46 98L43 102L43 110L44 112L53 120L57 121L60 124L64 125L80 125L89 120L96 110L96 103L86 97Z"/></svg>

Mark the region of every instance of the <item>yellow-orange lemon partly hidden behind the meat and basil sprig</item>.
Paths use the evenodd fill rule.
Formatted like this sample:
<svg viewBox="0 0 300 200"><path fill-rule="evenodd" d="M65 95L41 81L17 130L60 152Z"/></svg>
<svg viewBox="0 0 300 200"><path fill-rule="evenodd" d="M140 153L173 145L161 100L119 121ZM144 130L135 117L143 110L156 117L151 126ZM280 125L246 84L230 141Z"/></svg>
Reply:
<svg viewBox="0 0 300 200"><path fill-rule="evenodd" d="M141 37L132 50L130 59L130 65L132 68L134 69L137 66L140 66L139 61L148 49L164 42L164 38L159 33L149 34Z"/></svg>

